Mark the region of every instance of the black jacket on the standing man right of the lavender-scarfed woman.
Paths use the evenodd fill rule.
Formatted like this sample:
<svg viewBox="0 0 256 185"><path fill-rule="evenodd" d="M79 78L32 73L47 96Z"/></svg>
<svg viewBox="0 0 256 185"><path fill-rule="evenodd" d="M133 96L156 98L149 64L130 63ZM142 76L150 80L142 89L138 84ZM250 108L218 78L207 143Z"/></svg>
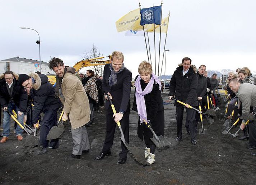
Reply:
<svg viewBox="0 0 256 185"><path fill-rule="evenodd" d="M180 100L183 103L187 103L191 106L198 106L196 93L198 79L196 72L190 67L185 76L183 76L182 69L183 66L177 67L172 75L169 96L175 95L175 99ZM174 106L184 105L175 101Z"/></svg>

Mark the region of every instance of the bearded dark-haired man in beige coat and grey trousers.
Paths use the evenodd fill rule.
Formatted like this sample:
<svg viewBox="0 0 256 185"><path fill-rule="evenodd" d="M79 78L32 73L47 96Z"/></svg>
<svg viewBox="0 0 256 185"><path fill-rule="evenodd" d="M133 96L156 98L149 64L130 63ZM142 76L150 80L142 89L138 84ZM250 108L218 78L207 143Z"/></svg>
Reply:
<svg viewBox="0 0 256 185"><path fill-rule="evenodd" d="M71 157L80 158L82 153L90 149L85 124L90 121L89 100L82 82L75 75L75 68L65 67L60 58L53 57L49 61L49 68L56 73L55 97L60 97L63 107L62 120L71 123L73 138L73 152Z"/></svg>

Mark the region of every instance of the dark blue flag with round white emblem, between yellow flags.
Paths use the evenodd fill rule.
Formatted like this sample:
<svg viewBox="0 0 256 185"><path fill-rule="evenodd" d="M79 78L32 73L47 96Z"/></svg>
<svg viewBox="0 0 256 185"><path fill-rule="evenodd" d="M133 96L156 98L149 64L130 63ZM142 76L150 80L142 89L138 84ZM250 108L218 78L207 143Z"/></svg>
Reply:
<svg viewBox="0 0 256 185"><path fill-rule="evenodd" d="M140 10L140 25L145 24L161 24L161 8L162 6L153 6Z"/></svg>

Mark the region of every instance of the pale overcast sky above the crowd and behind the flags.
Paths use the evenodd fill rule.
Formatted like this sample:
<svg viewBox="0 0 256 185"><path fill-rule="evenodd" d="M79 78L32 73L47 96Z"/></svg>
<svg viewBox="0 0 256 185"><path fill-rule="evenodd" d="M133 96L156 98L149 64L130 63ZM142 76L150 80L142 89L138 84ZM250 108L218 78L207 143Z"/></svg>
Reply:
<svg viewBox="0 0 256 185"><path fill-rule="evenodd" d="M140 3L141 8L148 8L161 1ZM138 7L138 0L1 0L0 60L39 59L37 33L19 29L28 27L40 35L43 61L60 57L65 65L73 66L94 44L104 56L122 51L125 66L135 77L139 63L148 60L144 37L117 33L115 22ZM190 57L197 67L206 65L206 70L247 66L256 73L255 7L255 0L163 0L163 17L171 12L166 74L172 74L183 57ZM153 60L153 34L149 39ZM160 62L164 39L162 34ZM159 37L157 41L158 63Z"/></svg>

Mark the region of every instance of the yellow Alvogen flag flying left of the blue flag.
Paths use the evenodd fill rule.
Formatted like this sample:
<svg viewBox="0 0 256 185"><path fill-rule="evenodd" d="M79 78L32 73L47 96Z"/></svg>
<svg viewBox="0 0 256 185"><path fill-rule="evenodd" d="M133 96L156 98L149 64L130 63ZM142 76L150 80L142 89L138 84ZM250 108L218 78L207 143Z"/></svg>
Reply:
<svg viewBox="0 0 256 185"><path fill-rule="evenodd" d="M131 30L132 25L134 24L140 25L140 9L137 8L135 10L130 11L128 14L122 16L116 22L117 32L123 32L126 30Z"/></svg>

